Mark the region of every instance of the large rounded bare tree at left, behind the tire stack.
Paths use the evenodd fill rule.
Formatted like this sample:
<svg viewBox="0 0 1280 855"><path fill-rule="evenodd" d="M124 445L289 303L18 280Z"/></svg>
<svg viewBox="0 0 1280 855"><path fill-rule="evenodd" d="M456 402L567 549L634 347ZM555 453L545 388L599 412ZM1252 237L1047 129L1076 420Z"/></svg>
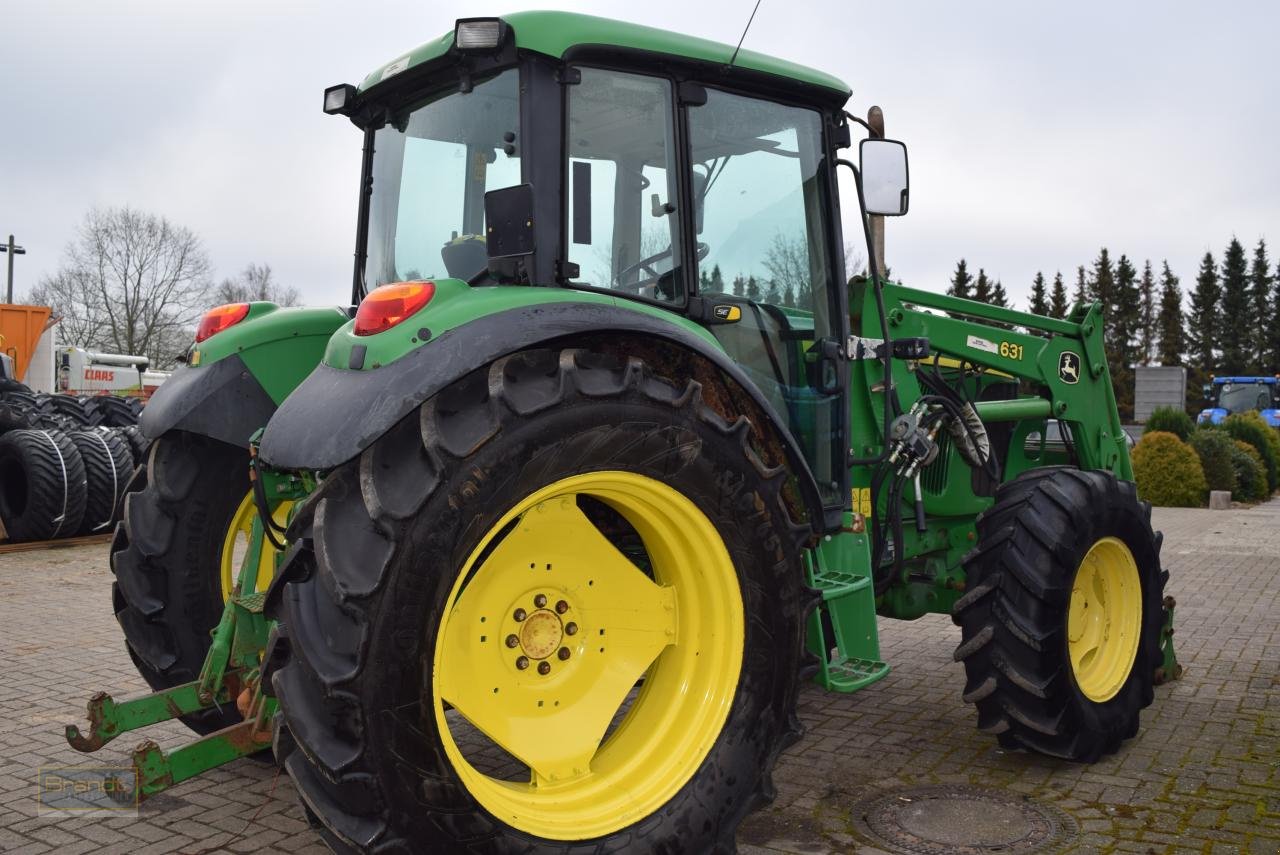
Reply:
<svg viewBox="0 0 1280 855"><path fill-rule="evenodd" d="M209 269L191 229L128 206L92 209L31 298L61 316L63 342L169 367L207 305Z"/></svg>

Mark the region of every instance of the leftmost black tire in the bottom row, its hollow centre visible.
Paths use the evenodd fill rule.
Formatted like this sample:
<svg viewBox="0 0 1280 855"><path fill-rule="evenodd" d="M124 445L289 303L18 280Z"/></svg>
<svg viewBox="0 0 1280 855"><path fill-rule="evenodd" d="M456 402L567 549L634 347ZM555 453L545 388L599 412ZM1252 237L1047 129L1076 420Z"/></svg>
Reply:
<svg viewBox="0 0 1280 855"><path fill-rule="evenodd" d="M73 536L84 517L84 462L56 430L0 436L0 520L14 541Z"/></svg>

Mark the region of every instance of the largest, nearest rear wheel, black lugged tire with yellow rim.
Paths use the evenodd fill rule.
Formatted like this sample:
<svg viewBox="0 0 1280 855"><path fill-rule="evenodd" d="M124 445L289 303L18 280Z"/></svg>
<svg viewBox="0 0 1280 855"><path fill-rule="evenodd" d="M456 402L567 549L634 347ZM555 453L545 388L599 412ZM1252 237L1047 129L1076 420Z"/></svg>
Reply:
<svg viewBox="0 0 1280 855"><path fill-rule="evenodd" d="M636 360L540 351L332 474L273 678L330 845L732 851L795 736L810 605L749 429Z"/></svg>

